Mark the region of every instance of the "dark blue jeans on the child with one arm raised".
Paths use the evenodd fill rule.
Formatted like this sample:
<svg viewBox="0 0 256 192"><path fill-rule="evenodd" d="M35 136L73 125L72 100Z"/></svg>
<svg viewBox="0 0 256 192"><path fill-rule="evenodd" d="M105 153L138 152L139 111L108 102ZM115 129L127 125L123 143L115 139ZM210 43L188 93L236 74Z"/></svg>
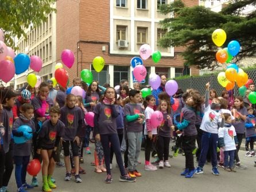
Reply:
<svg viewBox="0 0 256 192"><path fill-rule="evenodd" d="M203 167L206 161L208 150L211 151L212 167L217 166L217 146L218 146L218 134L211 134L210 132L203 132L201 138L201 154L199 158L199 167Z"/></svg>

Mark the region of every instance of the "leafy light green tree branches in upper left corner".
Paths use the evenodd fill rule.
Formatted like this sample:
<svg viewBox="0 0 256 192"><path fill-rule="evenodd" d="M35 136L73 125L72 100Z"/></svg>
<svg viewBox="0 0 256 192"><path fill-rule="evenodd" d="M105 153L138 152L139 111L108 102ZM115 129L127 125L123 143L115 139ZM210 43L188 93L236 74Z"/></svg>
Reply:
<svg viewBox="0 0 256 192"><path fill-rule="evenodd" d="M56 11L51 7L54 2L55 0L0 0L0 28L5 33L5 43L13 47L13 37L20 38L23 35L26 38L26 28L41 25L46 20L46 15Z"/></svg>

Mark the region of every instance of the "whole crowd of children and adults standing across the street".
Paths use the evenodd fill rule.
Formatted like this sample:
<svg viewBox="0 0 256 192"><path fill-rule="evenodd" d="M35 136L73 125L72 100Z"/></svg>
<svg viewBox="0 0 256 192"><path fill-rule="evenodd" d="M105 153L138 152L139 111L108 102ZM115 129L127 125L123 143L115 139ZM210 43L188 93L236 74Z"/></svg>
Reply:
<svg viewBox="0 0 256 192"><path fill-rule="evenodd" d="M29 85L19 91L1 87L0 192L7 191L13 164L17 191L39 186L37 175L33 175L31 185L26 182L30 156L42 163L42 191L56 188L56 166L65 167L65 181L71 181L75 175L75 182L82 182L80 174L86 171L80 164L84 163L84 154L92 153L91 133L95 144L92 164L96 173L106 172L106 183L113 181L114 154L121 174L119 181L135 182L142 176L137 168L142 146L146 171L171 167L170 140L176 142L173 156L184 152L185 170L181 175L185 178L203 174L207 161L212 163L214 175L219 175L218 167L228 172L246 169L238 151L245 135L245 155L256 156L255 105L248 99L254 84L249 85L244 98L227 91L218 97L209 83L205 85L205 96L195 89L178 89L169 96L165 92L166 76L159 76L160 87L145 98L141 84L134 83L130 89L128 80L121 80L118 89L107 83L100 86L98 81L88 85L80 77L75 77L73 86L67 89L53 87L51 80L41 83L38 89ZM75 86L86 94L73 95ZM151 120L154 111L162 113L158 127ZM94 117L87 122L90 112ZM30 127L30 131L22 126ZM62 150L64 163L60 160ZM150 162L150 156L156 156L156 160Z"/></svg>

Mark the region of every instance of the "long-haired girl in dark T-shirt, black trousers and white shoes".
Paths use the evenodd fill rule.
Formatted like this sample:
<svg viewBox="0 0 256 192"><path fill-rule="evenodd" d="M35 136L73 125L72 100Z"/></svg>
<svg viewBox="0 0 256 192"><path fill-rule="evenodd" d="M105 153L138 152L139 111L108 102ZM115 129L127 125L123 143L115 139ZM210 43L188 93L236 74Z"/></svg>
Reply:
<svg viewBox="0 0 256 192"><path fill-rule="evenodd" d="M170 137L172 136L172 130L174 126L172 123L172 117L168 111L170 111L170 105L166 100L161 100L158 110L162 112L164 119L158 129L158 140L157 140L157 155L160 160L158 167L160 169L170 167L168 162L169 158L169 143ZM163 155L164 154L164 155Z"/></svg>

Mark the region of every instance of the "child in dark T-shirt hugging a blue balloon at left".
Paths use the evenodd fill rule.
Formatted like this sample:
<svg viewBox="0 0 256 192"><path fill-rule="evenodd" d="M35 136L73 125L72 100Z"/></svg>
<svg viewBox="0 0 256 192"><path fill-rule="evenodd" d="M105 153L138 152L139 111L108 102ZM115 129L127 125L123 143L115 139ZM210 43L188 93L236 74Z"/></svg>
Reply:
<svg viewBox="0 0 256 192"><path fill-rule="evenodd" d="M25 192L26 189L33 189L26 183L26 167L29 163L29 158L32 149L32 136L35 131L34 122L32 120L34 116L34 107L31 104L25 103L21 105L20 117L15 120L13 124L13 136L24 136L27 142L17 144L14 143L14 163L15 163L15 179L18 187L18 191ZM18 128L22 125L27 125L32 128L32 132L18 132Z"/></svg>

